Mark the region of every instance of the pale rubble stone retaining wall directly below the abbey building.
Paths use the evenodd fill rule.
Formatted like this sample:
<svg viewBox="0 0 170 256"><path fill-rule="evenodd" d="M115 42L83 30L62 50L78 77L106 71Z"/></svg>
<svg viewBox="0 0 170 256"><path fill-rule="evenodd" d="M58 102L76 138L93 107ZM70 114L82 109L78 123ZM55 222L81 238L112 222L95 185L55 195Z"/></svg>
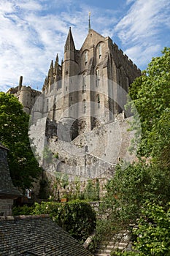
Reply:
<svg viewBox="0 0 170 256"><path fill-rule="evenodd" d="M66 173L71 180L74 180L74 176L80 176L82 180L109 178L120 160L134 160L134 155L128 152L134 137L134 132L128 131L128 121L131 119L132 117L124 118L122 113L115 116L115 122L99 125L90 132L78 135L71 142L66 142L53 136L53 132L50 138L45 136L44 118L31 127L32 138L35 138L39 157L43 157L45 147L50 152L50 162L41 160L48 172L54 175L56 172Z"/></svg>

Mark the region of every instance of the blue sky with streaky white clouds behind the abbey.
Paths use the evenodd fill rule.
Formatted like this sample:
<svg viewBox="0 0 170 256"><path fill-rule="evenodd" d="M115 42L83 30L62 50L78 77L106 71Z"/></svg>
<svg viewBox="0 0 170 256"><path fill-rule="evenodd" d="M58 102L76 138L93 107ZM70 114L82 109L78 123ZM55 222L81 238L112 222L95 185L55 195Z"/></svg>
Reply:
<svg viewBox="0 0 170 256"><path fill-rule="evenodd" d="M23 84L42 85L50 61L59 54L72 26L77 49L91 28L111 37L140 68L152 56L160 56L170 42L169 0L1 0L0 1L0 91Z"/></svg>

